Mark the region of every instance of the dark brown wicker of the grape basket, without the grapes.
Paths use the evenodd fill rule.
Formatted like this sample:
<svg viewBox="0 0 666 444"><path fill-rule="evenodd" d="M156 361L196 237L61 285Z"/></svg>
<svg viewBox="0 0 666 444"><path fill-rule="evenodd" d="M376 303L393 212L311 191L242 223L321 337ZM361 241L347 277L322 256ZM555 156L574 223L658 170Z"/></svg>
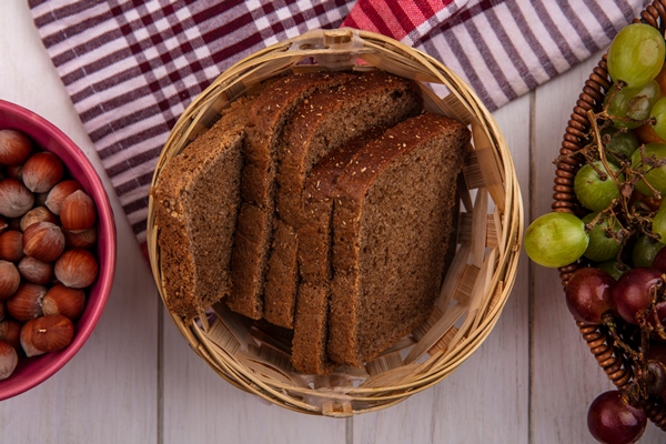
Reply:
<svg viewBox="0 0 666 444"><path fill-rule="evenodd" d="M655 0L640 13L634 22L648 23L664 34L666 29L666 0ZM582 167L579 157L573 155L587 143L586 134L591 129L588 112L598 112L602 109L604 94L612 85L607 69L607 54L602 57L597 67L585 82L576 105L568 121L562 148L561 161L557 163L555 184L553 186L553 211L579 213L581 206L574 194L574 176ZM574 263L559 269L562 285L566 286L572 274L582 266ZM577 322L577 327L583 334L591 352L608 379L618 389L626 387L634 377L634 369L627 360L625 352L614 346L609 333L605 327L585 325ZM666 431L666 405L663 400L650 397L644 403L645 411L650 421L663 431Z"/></svg>

